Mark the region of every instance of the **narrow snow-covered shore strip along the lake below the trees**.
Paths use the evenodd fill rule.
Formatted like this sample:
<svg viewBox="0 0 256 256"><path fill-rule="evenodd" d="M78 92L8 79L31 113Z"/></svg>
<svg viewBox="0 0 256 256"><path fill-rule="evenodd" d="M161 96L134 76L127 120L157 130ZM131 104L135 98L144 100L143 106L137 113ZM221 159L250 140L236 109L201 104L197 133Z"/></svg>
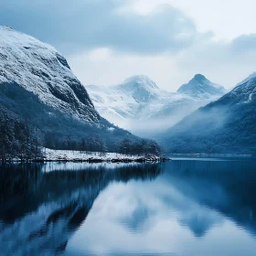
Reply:
<svg viewBox="0 0 256 256"><path fill-rule="evenodd" d="M70 150L52 150L43 148L43 161L83 161L83 162L155 162L167 161L168 158L156 155L122 155L117 153L101 153Z"/></svg>

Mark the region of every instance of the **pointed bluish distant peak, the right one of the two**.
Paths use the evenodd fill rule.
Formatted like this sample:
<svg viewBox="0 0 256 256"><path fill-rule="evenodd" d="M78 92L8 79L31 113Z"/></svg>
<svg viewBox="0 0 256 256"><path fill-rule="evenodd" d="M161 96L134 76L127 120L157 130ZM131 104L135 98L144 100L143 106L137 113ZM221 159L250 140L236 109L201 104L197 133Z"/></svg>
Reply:
<svg viewBox="0 0 256 256"><path fill-rule="evenodd" d="M209 99L215 96L222 96L226 90L223 86L211 82L205 76L197 74L188 83L183 84L177 92L187 94L193 98Z"/></svg>

